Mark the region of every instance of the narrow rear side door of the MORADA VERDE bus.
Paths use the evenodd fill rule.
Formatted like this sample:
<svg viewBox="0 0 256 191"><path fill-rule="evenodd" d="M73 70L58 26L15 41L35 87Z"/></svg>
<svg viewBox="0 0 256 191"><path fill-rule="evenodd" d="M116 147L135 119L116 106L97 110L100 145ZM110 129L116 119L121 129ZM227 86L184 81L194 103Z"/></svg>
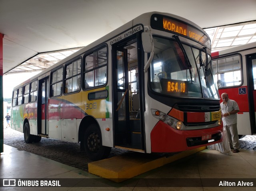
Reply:
<svg viewBox="0 0 256 191"><path fill-rule="evenodd" d="M48 88L49 79L39 81L38 96L38 134L48 136Z"/></svg>

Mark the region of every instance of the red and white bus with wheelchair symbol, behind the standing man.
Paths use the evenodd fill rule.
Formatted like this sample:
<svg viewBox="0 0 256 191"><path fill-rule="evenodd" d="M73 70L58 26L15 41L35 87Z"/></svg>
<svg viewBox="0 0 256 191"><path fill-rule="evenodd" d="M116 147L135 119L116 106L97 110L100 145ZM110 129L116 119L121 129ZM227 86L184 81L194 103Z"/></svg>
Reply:
<svg viewBox="0 0 256 191"><path fill-rule="evenodd" d="M212 52L212 67L220 95L238 103L239 138L256 135L256 42Z"/></svg>

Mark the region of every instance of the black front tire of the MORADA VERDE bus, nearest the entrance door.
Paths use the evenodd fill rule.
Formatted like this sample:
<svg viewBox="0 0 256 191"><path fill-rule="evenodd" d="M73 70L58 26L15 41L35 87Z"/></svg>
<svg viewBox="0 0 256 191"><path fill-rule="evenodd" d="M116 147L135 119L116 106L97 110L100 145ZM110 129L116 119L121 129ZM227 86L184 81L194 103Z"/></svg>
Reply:
<svg viewBox="0 0 256 191"><path fill-rule="evenodd" d="M84 133L84 149L89 159L97 161L107 158L111 147L102 146L100 128L96 124L90 124Z"/></svg>

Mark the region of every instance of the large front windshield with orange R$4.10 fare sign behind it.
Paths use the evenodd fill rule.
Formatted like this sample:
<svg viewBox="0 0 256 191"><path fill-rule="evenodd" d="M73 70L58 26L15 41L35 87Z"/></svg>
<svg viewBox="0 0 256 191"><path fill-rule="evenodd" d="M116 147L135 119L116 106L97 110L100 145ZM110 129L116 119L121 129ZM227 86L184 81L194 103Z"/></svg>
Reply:
<svg viewBox="0 0 256 191"><path fill-rule="evenodd" d="M219 99L210 63L210 55L206 59L205 49L154 37L151 89L169 96Z"/></svg>

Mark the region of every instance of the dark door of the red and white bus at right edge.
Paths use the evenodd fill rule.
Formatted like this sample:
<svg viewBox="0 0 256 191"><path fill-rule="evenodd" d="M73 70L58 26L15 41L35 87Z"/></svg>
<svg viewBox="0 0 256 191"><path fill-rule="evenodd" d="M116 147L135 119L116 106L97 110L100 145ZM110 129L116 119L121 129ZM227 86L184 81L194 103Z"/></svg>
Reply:
<svg viewBox="0 0 256 191"><path fill-rule="evenodd" d="M256 54L246 56L251 132L256 134Z"/></svg>

